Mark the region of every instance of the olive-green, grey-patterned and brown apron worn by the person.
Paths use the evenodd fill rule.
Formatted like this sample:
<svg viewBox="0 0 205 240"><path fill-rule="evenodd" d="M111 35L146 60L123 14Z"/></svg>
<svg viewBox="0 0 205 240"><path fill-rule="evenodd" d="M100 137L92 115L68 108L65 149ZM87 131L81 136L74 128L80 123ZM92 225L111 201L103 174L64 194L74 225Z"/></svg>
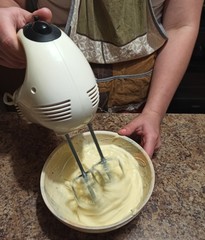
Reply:
<svg viewBox="0 0 205 240"><path fill-rule="evenodd" d="M100 109L136 111L146 101L167 40L150 0L73 0L64 31L93 69Z"/></svg>

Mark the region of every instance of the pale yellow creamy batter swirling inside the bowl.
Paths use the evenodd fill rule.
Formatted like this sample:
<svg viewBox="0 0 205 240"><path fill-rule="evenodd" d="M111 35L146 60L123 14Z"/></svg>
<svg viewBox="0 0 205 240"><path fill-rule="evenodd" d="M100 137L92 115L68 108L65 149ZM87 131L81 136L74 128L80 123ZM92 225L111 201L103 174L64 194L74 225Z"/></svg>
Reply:
<svg viewBox="0 0 205 240"><path fill-rule="evenodd" d="M100 157L92 141L83 145L81 142L78 147L84 168L92 170L88 183L95 197L82 177L76 179L80 171L65 145L60 155L55 156L58 160L47 166L48 177L45 179L47 197L58 217L70 224L102 227L136 214L144 187L139 161L126 148L102 144L109 169L107 174L102 164L93 168L94 163L100 162Z"/></svg>

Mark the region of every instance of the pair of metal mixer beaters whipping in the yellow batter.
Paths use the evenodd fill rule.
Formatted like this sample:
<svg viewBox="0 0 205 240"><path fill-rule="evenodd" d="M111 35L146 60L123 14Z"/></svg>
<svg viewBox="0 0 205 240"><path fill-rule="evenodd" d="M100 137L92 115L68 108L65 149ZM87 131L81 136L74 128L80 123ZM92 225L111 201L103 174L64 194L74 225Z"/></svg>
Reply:
<svg viewBox="0 0 205 240"><path fill-rule="evenodd" d="M98 201L98 192L102 191L104 185L112 183L114 179L119 180L122 178L124 171L119 160L106 159L104 157L90 123L88 124L88 128L100 156L100 161L94 164L87 171L85 171L83 168L69 135L66 134L65 136L73 153L75 161L81 171L81 174L78 177L74 178L71 182L71 188L75 199L77 202L86 201L89 203L95 203Z"/></svg>

